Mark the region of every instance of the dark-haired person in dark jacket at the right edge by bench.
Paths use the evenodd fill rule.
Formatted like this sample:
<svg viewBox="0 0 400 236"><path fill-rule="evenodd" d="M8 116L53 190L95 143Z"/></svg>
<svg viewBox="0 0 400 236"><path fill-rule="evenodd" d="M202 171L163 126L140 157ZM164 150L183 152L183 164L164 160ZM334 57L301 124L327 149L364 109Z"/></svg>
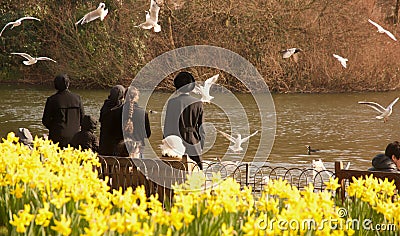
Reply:
<svg viewBox="0 0 400 236"><path fill-rule="evenodd" d="M386 147L385 154L378 154L372 159L371 171L400 172L400 143L394 141Z"/></svg>

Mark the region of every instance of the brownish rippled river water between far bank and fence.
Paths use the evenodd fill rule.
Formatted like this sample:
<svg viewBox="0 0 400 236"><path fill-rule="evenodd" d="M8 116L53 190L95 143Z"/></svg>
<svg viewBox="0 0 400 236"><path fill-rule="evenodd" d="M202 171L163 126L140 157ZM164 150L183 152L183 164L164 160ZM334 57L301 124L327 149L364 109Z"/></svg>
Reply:
<svg viewBox="0 0 400 236"><path fill-rule="evenodd" d="M47 133L41 118L46 98L54 92L51 88L0 85L0 136L5 137L19 127L28 128L33 135ZM109 90L72 89L72 92L82 97L85 112L98 119ZM358 104L358 101L375 101L387 106L398 96L397 92L274 94L272 105L268 94L213 95L215 104L204 105L207 140L203 158L206 160L218 157L252 161L256 156L274 166L303 168L309 167L313 159L322 159L330 170L334 161L340 160L351 162L352 169L367 169L371 159L382 153L389 142L400 139L400 108L396 107L400 105L394 106L392 116L384 123L375 119L373 109ZM150 114L152 136L146 144L146 157L160 153L163 108L170 96L171 93L142 93L139 104L147 110L158 111ZM257 100L268 103L267 109L260 109ZM271 109L273 105L275 111ZM267 122L262 122L261 116ZM100 125L97 135L99 129ZM243 145L245 151L233 153L228 149L229 141L215 130L239 132L243 136L256 130L260 132L250 138L248 145ZM308 155L305 145L319 151Z"/></svg>

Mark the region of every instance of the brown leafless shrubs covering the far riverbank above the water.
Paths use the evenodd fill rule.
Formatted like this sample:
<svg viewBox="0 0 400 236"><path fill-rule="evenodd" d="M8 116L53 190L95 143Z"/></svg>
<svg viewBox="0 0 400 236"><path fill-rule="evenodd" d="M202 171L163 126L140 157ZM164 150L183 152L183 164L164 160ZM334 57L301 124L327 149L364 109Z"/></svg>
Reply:
<svg viewBox="0 0 400 236"><path fill-rule="evenodd" d="M372 18L397 35L393 9L398 9L398 1L160 2L164 2L159 17L162 31L154 33L134 27L144 20L148 0L105 1L109 14L103 22L77 27L74 23L95 9L97 2L2 1L3 24L25 15L42 21L5 30L0 78L43 83L66 72L79 87L127 85L156 56L178 47L207 44L248 59L276 92L383 91L400 85L397 44L367 22ZM299 63L281 58L279 51L290 47L304 50ZM58 63L27 67L21 58L10 56L16 51L49 56ZM349 59L347 69L333 53ZM203 72L194 70L197 76ZM221 84L245 91L228 74L221 77ZM165 81L160 88L172 89L172 83Z"/></svg>

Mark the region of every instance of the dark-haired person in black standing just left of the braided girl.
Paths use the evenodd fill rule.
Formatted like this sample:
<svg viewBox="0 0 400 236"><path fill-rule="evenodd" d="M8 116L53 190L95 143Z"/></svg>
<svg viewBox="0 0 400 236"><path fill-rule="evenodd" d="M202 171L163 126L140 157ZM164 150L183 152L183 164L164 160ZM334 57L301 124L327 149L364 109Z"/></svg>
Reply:
<svg viewBox="0 0 400 236"><path fill-rule="evenodd" d="M116 85L111 88L108 98L100 110L100 143L99 154L115 155L117 145L124 140L122 132L122 109L124 105L125 88Z"/></svg>

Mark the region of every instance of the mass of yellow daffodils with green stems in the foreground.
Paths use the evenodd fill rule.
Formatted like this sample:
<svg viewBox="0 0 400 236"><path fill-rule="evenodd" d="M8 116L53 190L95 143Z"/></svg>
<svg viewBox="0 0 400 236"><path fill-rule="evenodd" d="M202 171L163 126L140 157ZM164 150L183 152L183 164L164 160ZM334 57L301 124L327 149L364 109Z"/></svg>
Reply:
<svg viewBox="0 0 400 236"><path fill-rule="evenodd" d="M41 139L30 150L15 142L10 133L0 143L0 226L10 235L374 235L376 227L348 223L365 219L369 227L391 225L383 235L399 232L400 204L388 181L355 180L340 208L333 179L323 192L275 180L255 197L218 175L218 185L199 191L205 176L196 173L175 187L172 206L162 208L142 187L108 192L90 151L60 150Z"/></svg>

